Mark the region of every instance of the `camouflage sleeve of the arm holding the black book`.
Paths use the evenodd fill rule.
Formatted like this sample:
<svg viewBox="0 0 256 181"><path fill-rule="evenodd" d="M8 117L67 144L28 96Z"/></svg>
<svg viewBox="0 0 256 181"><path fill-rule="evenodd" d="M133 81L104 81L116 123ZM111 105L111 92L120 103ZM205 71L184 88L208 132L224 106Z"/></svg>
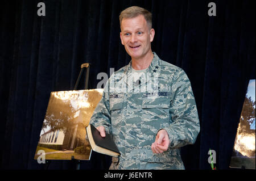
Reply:
<svg viewBox="0 0 256 181"><path fill-rule="evenodd" d="M102 98L95 108L92 117L90 118L90 124L94 127L104 126L106 133L111 133L111 116L109 111L109 81L106 83Z"/></svg>

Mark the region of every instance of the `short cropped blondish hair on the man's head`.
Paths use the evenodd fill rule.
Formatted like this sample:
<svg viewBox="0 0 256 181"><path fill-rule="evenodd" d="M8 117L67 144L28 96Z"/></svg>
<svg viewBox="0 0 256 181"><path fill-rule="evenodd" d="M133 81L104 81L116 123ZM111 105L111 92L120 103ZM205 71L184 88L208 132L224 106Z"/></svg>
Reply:
<svg viewBox="0 0 256 181"><path fill-rule="evenodd" d="M152 28L151 12L139 6L131 6L121 12L121 14L119 15L120 27L121 27L123 18L135 18L139 15L144 16L144 18L146 19L148 28L151 29Z"/></svg>

